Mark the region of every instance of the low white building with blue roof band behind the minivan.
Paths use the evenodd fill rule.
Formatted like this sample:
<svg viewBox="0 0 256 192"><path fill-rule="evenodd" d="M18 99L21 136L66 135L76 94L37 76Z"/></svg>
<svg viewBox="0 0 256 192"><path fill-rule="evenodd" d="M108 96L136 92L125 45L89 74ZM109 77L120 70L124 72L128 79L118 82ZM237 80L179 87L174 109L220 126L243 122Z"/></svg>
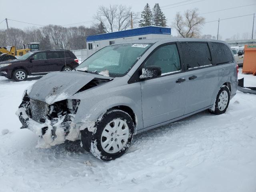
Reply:
<svg viewBox="0 0 256 192"><path fill-rule="evenodd" d="M164 39L171 38L171 28L146 26L129 30L110 32L88 36L86 38L87 56L104 48L105 46L143 39Z"/></svg>

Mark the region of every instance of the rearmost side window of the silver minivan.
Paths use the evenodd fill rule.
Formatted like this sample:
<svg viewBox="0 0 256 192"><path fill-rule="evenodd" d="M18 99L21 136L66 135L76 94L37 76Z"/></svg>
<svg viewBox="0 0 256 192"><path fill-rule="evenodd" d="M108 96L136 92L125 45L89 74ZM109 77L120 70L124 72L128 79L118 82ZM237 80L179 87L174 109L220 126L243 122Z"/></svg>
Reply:
<svg viewBox="0 0 256 192"><path fill-rule="evenodd" d="M234 62L232 53L228 46L223 43L211 42L211 50L214 64Z"/></svg>

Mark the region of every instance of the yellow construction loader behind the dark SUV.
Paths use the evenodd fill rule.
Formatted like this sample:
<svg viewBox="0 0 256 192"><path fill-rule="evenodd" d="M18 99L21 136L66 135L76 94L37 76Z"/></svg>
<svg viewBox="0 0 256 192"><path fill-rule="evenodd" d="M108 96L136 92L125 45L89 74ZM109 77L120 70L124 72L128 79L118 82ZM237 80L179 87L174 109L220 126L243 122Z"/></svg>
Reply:
<svg viewBox="0 0 256 192"><path fill-rule="evenodd" d="M39 50L39 43L29 43L28 48L24 46L24 49L16 50L15 46L0 47L0 61L16 59L15 56L22 56L30 51Z"/></svg>

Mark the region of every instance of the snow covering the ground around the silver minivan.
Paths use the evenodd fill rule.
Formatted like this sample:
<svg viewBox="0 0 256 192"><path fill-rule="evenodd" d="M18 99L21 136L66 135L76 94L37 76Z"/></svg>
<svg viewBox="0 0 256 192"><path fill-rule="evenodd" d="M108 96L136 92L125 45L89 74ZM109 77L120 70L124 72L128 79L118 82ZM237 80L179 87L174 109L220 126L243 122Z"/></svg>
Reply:
<svg viewBox="0 0 256 192"><path fill-rule="evenodd" d="M124 156L103 162L80 142L35 148L15 112L37 79L0 77L0 192L256 191L256 95L238 91L225 114L204 111L138 134Z"/></svg>

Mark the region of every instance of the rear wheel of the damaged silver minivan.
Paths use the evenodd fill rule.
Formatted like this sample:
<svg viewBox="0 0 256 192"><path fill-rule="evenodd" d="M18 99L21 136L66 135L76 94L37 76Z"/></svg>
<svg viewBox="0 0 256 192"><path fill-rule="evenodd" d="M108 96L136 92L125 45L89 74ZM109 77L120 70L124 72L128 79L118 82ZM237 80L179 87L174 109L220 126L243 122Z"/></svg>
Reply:
<svg viewBox="0 0 256 192"><path fill-rule="evenodd" d="M208 109L208 111L211 114L215 114L215 115L220 115L226 112L227 108L228 108L228 104L230 101L230 90L226 85L222 85L216 100L214 102L214 106L210 109Z"/></svg>

